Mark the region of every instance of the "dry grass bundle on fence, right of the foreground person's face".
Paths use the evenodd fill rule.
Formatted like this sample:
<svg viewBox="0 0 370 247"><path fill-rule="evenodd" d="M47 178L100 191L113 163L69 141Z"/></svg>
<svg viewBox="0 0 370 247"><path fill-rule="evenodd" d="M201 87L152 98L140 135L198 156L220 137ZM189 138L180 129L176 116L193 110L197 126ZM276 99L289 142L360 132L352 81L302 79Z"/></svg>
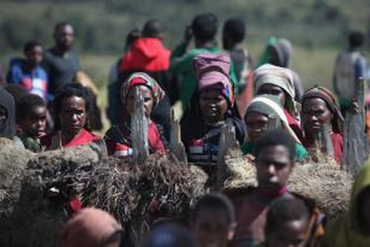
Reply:
<svg viewBox="0 0 370 247"><path fill-rule="evenodd" d="M335 161L296 165L288 187L315 200L329 218L347 210L353 179Z"/></svg>

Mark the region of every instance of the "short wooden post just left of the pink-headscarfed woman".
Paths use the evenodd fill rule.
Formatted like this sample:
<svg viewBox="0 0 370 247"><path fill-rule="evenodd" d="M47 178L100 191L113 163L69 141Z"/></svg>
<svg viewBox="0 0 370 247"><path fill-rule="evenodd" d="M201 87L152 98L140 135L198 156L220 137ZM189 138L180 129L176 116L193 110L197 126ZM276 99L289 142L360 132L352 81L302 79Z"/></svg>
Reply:
<svg viewBox="0 0 370 247"><path fill-rule="evenodd" d="M180 120L176 118L174 109L171 109L170 150L180 163L187 164L185 147L181 142Z"/></svg>

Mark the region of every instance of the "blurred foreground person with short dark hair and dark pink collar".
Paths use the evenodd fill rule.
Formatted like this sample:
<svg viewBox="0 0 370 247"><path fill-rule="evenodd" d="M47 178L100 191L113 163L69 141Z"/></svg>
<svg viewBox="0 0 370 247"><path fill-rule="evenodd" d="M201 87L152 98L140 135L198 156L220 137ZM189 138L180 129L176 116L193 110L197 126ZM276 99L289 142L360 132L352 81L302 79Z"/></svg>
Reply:
<svg viewBox="0 0 370 247"><path fill-rule="evenodd" d="M293 196L287 183L295 166L295 153L294 140L281 130L268 132L258 140L255 150L258 187L231 195L237 219L236 246L261 244L265 240L266 214L271 202ZM314 205L311 200L305 201ZM314 206L310 212L313 221L318 222L319 213ZM312 232L316 234L320 226L315 224Z"/></svg>

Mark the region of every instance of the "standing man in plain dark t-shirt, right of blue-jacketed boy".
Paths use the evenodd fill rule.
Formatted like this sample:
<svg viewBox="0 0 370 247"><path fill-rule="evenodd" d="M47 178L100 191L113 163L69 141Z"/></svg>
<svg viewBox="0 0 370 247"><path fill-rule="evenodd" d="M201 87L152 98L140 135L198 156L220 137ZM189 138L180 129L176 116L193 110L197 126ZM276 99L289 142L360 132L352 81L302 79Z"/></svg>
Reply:
<svg viewBox="0 0 370 247"><path fill-rule="evenodd" d="M70 23L59 23L54 30L54 47L45 52L45 68L48 72L48 92L55 95L56 90L70 82L80 70L77 55L72 46L74 42L74 28Z"/></svg>

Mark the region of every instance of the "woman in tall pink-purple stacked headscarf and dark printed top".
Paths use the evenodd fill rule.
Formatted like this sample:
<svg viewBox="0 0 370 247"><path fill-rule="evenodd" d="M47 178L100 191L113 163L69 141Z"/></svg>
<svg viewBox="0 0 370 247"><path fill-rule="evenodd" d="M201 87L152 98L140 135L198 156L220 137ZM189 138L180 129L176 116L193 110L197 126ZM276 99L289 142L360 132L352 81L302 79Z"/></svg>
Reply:
<svg viewBox="0 0 370 247"><path fill-rule="evenodd" d="M234 95L229 79L230 57L204 53L193 62L198 78L201 116L182 122L182 140L190 162L216 163L222 126L235 127L236 139L243 143L242 123L233 117Z"/></svg>

